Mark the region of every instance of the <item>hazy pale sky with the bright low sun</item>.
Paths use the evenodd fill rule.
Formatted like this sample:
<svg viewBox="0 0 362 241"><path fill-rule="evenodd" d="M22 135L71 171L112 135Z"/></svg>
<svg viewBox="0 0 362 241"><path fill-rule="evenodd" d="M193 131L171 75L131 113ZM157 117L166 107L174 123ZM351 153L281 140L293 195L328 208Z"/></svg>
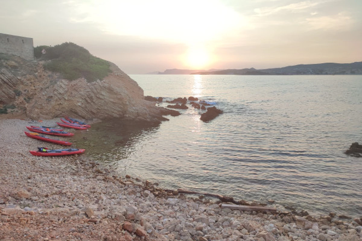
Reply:
<svg viewBox="0 0 362 241"><path fill-rule="evenodd" d="M0 0L0 33L129 74L362 61L362 0Z"/></svg>

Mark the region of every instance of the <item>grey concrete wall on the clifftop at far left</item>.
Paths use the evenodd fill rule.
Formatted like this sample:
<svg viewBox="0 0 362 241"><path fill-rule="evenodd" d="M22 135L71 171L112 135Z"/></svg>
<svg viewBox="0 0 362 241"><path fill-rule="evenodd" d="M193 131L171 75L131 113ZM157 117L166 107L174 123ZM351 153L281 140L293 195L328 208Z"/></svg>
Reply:
<svg viewBox="0 0 362 241"><path fill-rule="evenodd" d="M0 53L34 60L33 39L0 33Z"/></svg>

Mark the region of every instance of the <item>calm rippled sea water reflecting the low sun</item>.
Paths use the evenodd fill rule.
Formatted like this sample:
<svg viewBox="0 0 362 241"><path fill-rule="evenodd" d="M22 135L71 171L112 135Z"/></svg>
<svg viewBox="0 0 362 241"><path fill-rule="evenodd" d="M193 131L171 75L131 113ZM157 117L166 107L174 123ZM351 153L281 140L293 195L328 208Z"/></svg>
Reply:
<svg viewBox="0 0 362 241"><path fill-rule="evenodd" d="M362 214L362 158L343 154L362 142L362 76L131 78L145 95L197 96L224 114L204 123L189 108L154 127L96 124L75 137L93 158L166 188Z"/></svg>

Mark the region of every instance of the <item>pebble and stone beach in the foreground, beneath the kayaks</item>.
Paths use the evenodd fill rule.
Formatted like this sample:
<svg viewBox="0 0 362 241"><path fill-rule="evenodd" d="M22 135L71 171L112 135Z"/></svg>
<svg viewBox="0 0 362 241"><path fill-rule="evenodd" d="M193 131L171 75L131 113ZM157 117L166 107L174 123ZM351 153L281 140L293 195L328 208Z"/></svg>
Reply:
<svg viewBox="0 0 362 241"><path fill-rule="evenodd" d="M86 155L31 156L41 143L24 136L28 124L0 120L0 240L362 240L361 219L231 210Z"/></svg>

